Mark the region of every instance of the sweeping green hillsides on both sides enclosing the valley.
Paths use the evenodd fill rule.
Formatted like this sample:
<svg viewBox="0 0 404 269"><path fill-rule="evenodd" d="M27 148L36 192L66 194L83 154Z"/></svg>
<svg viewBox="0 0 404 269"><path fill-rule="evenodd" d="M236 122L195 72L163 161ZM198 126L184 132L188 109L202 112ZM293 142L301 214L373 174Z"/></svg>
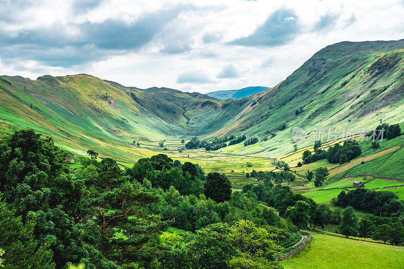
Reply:
<svg viewBox="0 0 404 269"><path fill-rule="evenodd" d="M101 148L126 159L154 151L133 152L133 140L274 133L267 141L221 150L276 157L292 150L295 126L314 138L319 128L361 133L380 120L400 123L403 56L404 40L340 42L318 51L275 87L226 100L169 88L125 87L85 74L37 80L2 76L0 121L3 133L29 127L71 149ZM307 139L298 148L312 143Z"/></svg>

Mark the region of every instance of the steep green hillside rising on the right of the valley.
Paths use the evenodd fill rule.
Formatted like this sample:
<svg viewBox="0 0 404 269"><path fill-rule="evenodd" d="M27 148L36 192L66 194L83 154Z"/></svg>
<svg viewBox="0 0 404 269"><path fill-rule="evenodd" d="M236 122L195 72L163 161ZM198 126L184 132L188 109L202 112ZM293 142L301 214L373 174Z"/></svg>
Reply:
<svg viewBox="0 0 404 269"><path fill-rule="evenodd" d="M403 58L404 40L327 46L277 86L252 95L254 105L248 112L211 136L242 132L265 136L273 131L277 135L260 143L260 152L276 156L291 149L295 126L312 135L320 128L341 134L351 128L351 132L364 132L380 120L402 122ZM283 124L286 129L281 130ZM276 149L269 152L274 144Z"/></svg>

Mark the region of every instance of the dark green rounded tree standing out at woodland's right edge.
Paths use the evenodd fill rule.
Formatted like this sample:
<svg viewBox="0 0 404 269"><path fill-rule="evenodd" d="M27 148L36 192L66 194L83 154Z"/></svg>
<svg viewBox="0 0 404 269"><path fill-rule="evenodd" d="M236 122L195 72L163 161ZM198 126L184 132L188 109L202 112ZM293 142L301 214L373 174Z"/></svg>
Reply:
<svg viewBox="0 0 404 269"><path fill-rule="evenodd" d="M211 172L205 183L205 195L216 202L224 202L231 198L231 183L224 174Z"/></svg>

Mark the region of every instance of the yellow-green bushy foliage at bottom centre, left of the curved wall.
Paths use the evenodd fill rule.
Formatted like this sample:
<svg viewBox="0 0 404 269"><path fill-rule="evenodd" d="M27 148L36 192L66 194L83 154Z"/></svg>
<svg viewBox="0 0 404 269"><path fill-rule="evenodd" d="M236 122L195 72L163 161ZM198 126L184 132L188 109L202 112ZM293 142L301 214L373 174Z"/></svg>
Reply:
<svg viewBox="0 0 404 269"><path fill-rule="evenodd" d="M190 237L192 240L190 240ZM273 254L284 238L275 227L258 227L249 221L212 224L195 235L176 236L159 261L164 268L269 268L280 269Z"/></svg>

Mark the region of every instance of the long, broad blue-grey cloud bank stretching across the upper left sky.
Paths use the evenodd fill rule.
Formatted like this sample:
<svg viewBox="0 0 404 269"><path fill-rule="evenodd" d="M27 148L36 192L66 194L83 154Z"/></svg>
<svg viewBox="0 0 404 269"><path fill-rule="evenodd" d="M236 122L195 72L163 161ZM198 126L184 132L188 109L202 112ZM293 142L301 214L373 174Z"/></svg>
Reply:
<svg viewBox="0 0 404 269"><path fill-rule="evenodd" d="M5 63L35 60L58 67L104 60L140 49L180 13L177 7L144 15L133 23L108 19L101 23L67 23L13 34L0 29L0 59ZM69 29L78 34L71 35Z"/></svg>

